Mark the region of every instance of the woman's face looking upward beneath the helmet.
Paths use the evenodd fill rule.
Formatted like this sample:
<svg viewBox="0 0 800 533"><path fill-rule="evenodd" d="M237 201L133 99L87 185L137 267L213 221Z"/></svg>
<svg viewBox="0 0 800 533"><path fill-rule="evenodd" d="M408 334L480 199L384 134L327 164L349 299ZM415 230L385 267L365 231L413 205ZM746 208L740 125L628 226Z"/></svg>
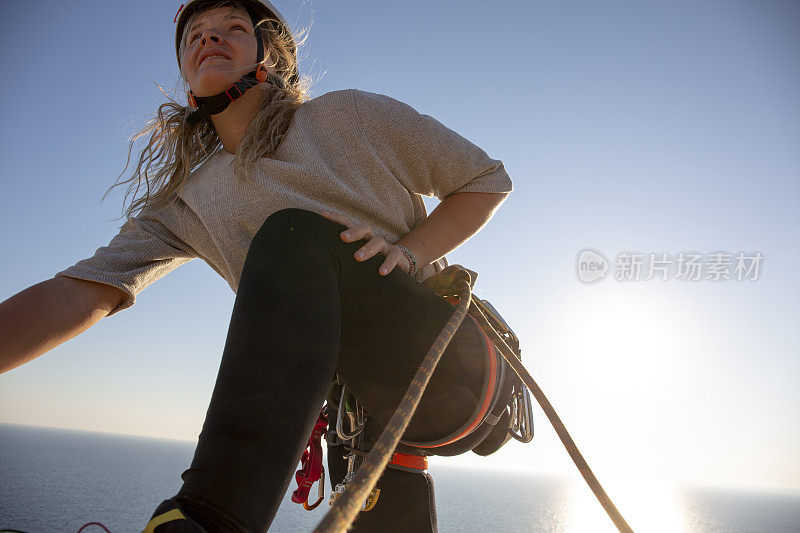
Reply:
<svg viewBox="0 0 800 533"><path fill-rule="evenodd" d="M195 96L218 94L255 70L253 23L241 7L218 7L194 15L186 24L184 38L181 71Z"/></svg>

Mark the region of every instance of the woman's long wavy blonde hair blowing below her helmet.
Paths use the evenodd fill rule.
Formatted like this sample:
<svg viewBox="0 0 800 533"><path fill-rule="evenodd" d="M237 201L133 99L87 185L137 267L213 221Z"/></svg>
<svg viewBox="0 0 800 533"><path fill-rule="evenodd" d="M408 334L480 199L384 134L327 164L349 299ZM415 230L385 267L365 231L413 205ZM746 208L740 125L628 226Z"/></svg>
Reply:
<svg viewBox="0 0 800 533"><path fill-rule="evenodd" d="M230 6L245 9L241 2L218 1L201 8L194 13L184 25L184 34L180 42L180 57L186 46L187 29L191 28L192 20L205 11L215 7ZM246 9L245 9L246 10ZM289 83L289 78L297 68L296 56L291 52L291 35L278 21L265 18L257 21L256 34L260 32L264 40L265 66L274 67L274 74L284 80L285 88L279 88L271 83L260 83L248 90L262 90L265 92L261 106L256 116L247 126L233 161L234 175L237 179L245 181L253 175L255 165L261 157L271 157L278 149L281 141L289 129L295 110L310 99L309 91L311 79L303 75L294 84ZM296 42L299 48L305 39ZM253 65L255 70L256 65ZM183 82L182 94L186 94L189 86L186 77L181 73ZM191 107L175 101L160 85L156 84L169 102L161 104L158 111L147 122L147 125L130 138L128 146L128 159L120 177L125 173L131 159L133 144L140 137L150 135L147 146L139 155L136 171L130 179L115 183L109 187L108 192L118 185L129 183L128 190L123 200L123 215L126 220L135 216L134 211L141 212L148 206L162 207L169 204L178 194L191 172L207 161L222 149L214 124L206 116L193 125L189 125L186 117L194 112ZM142 185L146 185L146 193L135 198ZM133 191L134 200L127 209L124 202ZM102 200L101 200L102 202ZM122 216L117 217L122 218Z"/></svg>

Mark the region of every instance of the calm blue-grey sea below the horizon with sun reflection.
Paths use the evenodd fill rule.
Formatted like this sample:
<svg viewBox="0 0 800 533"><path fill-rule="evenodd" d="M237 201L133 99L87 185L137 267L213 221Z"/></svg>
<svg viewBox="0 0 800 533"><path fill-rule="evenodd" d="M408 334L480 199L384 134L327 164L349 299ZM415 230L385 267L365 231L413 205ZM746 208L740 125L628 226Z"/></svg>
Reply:
<svg viewBox="0 0 800 533"><path fill-rule="evenodd" d="M74 533L101 522L112 533L140 532L155 507L180 488L194 446L0 424L0 530ZM616 531L577 473L568 479L437 465L431 474L442 533ZM292 503L293 486L270 531L312 531L324 516L327 503L310 512ZM798 494L641 480L606 488L637 532L800 532ZM329 484L325 492L327 500Z"/></svg>

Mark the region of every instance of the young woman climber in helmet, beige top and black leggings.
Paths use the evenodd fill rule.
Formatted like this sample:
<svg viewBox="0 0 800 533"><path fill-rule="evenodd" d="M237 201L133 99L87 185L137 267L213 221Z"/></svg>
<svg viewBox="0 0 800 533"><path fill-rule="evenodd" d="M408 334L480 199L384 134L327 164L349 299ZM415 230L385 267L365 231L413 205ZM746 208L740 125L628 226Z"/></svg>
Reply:
<svg viewBox="0 0 800 533"><path fill-rule="evenodd" d="M93 257L0 305L12 324L12 308L40 312L53 294L72 302L50 317L57 333L9 326L0 370L202 258L236 300L191 467L147 530L265 531L326 399L335 427L342 385L369 415L366 450L377 440L453 312L421 282L488 222L512 182L500 161L393 98L349 89L310 99L297 43L269 2L190 1L176 25L188 102L163 104L140 133L150 140L130 181L147 194ZM422 195L441 200L430 216ZM505 413L511 372L487 342L468 316L398 451L477 452L507 423L492 413ZM346 468L332 440L331 487ZM436 530L432 478L400 463L355 531Z"/></svg>

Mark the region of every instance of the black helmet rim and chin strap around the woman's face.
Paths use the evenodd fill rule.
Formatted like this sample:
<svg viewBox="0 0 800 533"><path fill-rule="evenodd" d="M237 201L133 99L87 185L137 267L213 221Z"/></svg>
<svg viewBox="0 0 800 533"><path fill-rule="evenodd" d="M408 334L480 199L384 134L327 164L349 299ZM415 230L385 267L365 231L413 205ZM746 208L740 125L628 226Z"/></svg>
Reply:
<svg viewBox="0 0 800 533"><path fill-rule="evenodd" d="M300 79L297 73L297 45L294 42L294 37L289 30L289 25L283 18L283 15L275 9L271 3L266 0L241 0L250 15L250 20L253 23L253 28L258 32L258 21L262 19L271 19L278 27L289 36L291 53L294 56L294 69L292 75L289 77L289 84L294 85ZM213 6L214 4L208 0L190 0L186 4L181 4L178 12L175 14L173 22L175 26L175 55L178 58L178 68L181 68L180 45L183 38L183 29L189 17L198 12L199 10ZM224 91L214 96L195 96L189 90L187 91L187 100L189 106L195 109L186 117L189 124L195 124L198 121L210 115L215 115L224 111L231 102L241 97L244 92L259 83L270 83L281 89L286 88L286 83L279 76L275 76L267 71L263 62L265 58L264 43L260 38L256 39L256 64L258 65L255 70L248 72L239 79L236 83L229 85Z"/></svg>

